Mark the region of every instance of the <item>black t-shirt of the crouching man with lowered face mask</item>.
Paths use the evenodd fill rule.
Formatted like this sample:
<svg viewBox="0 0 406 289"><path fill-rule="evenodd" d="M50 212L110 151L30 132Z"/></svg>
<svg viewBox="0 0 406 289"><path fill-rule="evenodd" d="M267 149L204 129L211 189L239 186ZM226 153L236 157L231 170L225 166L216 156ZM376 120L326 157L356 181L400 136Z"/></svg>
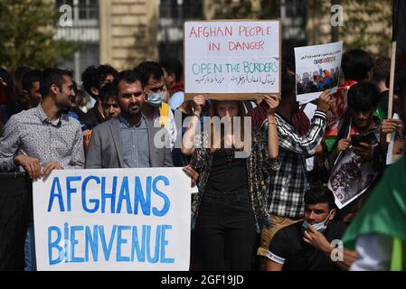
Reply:
<svg viewBox="0 0 406 289"><path fill-rule="evenodd" d="M269 245L269 259L283 263L283 271L335 271L339 270L324 252L308 245L303 240L303 221L280 229ZM328 223L324 235L329 243L341 239L345 232L345 223Z"/></svg>

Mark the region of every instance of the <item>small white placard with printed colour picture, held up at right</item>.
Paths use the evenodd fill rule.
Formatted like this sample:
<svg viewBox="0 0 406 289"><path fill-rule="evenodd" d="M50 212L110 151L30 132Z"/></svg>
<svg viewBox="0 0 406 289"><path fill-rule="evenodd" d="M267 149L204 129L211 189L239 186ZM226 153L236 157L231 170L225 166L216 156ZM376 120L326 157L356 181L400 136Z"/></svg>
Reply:
<svg viewBox="0 0 406 289"><path fill-rule="evenodd" d="M297 101L307 103L322 91L337 91L343 42L295 48Z"/></svg>

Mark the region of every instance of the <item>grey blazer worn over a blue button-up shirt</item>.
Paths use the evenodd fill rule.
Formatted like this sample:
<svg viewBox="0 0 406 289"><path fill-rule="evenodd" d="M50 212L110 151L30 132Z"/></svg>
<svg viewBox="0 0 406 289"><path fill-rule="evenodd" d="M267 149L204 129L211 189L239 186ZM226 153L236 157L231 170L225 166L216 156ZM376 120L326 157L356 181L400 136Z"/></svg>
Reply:
<svg viewBox="0 0 406 289"><path fill-rule="evenodd" d="M154 135L161 127L154 127L146 120L151 167L172 167L172 153L169 148L156 148ZM89 149L86 154L86 169L123 168L123 144L118 118L111 118L93 128Z"/></svg>

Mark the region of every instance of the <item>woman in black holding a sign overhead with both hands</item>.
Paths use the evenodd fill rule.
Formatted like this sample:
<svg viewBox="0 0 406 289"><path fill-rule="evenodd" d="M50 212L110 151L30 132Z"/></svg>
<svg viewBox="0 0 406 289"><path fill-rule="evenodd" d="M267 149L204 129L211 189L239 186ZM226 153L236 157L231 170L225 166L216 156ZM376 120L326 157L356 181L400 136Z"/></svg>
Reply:
<svg viewBox="0 0 406 289"><path fill-rule="evenodd" d="M279 167L274 116L279 97L264 98L269 105L268 141L266 134L251 131L242 102L234 100L214 100L209 126L196 134L204 100L203 96L194 98L195 117L182 146L183 154L192 155L190 165L200 175L192 226L202 247L204 269L224 270L227 248L231 270L250 270L256 233L270 224L265 179Z"/></svg>

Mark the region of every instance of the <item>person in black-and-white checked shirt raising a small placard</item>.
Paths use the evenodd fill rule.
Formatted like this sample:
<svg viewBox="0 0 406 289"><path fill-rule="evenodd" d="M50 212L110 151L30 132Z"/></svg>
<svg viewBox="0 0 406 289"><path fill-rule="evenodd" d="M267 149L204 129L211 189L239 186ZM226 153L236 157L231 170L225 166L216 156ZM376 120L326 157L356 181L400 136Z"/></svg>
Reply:
<svg viewBox="0 0 406 289"><path fill-rule="evenodd" d="M303 218L303 196L309 189L306 158L316 154L316 148L322 141L326 129L326 111L331 103L329 91L323 91L318 98L317 110L309 130L305 135L299 135L292 125L292 117L297 112L295 76L284 73L281 82L282 99L275 118L282 163L279 170L270 175L268 208L272 227L261 231L258 255L263 257L260 265L262 270L265 269L265 258L274 234L280 228Z"/></svg>

